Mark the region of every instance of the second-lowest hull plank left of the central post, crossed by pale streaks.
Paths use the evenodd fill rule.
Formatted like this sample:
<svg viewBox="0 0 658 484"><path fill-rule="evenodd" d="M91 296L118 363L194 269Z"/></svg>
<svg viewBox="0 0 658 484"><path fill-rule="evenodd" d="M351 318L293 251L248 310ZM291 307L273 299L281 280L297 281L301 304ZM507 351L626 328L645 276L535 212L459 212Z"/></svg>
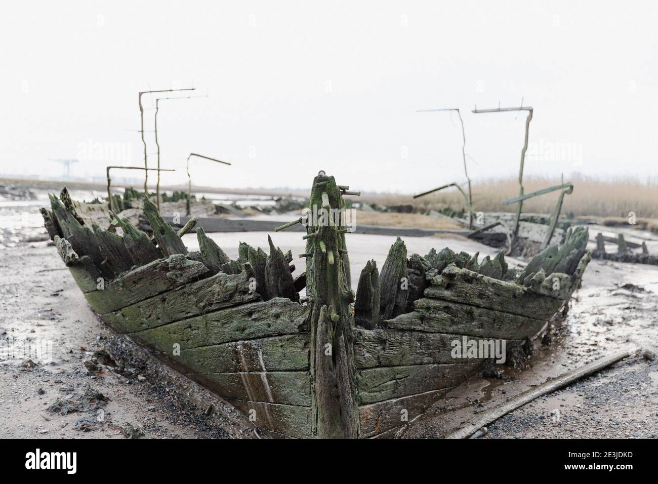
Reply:
<svg viewBox="0 0 658 484"><path fill-rule="evenodd" d="M201 375L211 390L232 400L311 406L308 371L260 371Z"/></svg>

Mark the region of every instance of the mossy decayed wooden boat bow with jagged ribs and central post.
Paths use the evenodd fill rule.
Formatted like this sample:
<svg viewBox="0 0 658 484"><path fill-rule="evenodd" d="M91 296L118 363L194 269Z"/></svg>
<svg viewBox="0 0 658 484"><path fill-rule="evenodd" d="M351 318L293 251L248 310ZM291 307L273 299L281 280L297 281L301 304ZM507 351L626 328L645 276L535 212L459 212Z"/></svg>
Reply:
<svg viewBox="0 0 658 484"><path fill-rule="evenodd" d="M340 215L347 190L322 172L313 180L311 213L338 218L307 219L296 279L291 253L271 238L269 254L240 244L232 260L199 228L199 251L188 251L181 236L191 227L174 232L147 200L152 239L113 213L107 229L89 226L66 189L41 213L107 325L283 437L376 437L406 425L493 363L455 352L456 342L504 341L511 358L569 302L590 259L586 229L520 272L502 252L480 262L447 248L407 257L398 238L354 291Z"/></svg>

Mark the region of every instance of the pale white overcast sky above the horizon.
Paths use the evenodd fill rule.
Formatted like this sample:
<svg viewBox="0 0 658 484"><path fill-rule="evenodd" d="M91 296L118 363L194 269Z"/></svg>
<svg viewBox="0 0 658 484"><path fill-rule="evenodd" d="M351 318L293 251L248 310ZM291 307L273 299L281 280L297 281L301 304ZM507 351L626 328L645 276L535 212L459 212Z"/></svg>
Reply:
<svg viewBox="0 0 658 484"><path fill-rule="evenodd" d="M521 99L526 176L655 180L657 23L655 1L3 0L0 174L143 166L138 92L194 86L209 97L161 101L158 122L163 166L191 151L232 163L195 161L199 184L461 181L459 119L415 112L442 107L461 109L474 180L516 176L526 113L470 111Z"/></svg>

